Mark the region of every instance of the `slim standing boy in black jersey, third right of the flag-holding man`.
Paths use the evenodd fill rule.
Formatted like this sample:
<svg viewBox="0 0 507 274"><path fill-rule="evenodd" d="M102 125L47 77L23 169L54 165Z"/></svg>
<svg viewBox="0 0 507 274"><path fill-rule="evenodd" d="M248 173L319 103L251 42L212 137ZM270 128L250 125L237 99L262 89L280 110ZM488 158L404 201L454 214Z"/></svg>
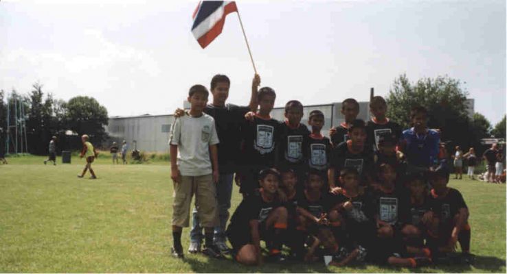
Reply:
<svg viewBox="0 0 507 274"><path fill-rule="evenodd" d="M324 126L324 113L320 110L313 110L308 117L308 125L312 127L312 133L308 140L308 167L322 173L325 179L323 189L329 190L326 173L329 168L331 154L331 142L329 138L321 134Z"/></svg>

